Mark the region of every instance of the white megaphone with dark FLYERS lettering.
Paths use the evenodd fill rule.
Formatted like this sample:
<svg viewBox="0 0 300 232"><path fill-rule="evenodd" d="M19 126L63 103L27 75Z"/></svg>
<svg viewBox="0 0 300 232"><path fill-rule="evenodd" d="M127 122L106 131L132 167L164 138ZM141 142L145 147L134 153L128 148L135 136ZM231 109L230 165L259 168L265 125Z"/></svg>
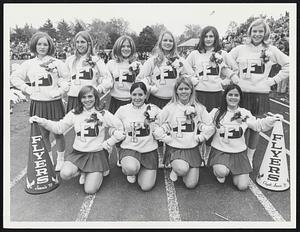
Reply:
<svg viewBox="0 0 300 232"><path fill-rule="evenodd" d="M290 187L282 118L274 124L267 150L256 177L256 182L260 186L273 191L283 191Z"/></svg>

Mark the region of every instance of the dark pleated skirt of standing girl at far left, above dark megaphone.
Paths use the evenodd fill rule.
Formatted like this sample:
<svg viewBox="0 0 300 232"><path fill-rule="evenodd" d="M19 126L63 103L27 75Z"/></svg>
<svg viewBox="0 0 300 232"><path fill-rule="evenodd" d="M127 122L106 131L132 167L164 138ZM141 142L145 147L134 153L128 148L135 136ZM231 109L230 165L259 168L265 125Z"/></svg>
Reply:
<svg viewBox="0 0 300 232"><path fill-rule="evenodd" d="M30 116L39 116L52 121L59 121L65 116L64 105L61 99L54 101L36 101L30 102Z"/></svg>

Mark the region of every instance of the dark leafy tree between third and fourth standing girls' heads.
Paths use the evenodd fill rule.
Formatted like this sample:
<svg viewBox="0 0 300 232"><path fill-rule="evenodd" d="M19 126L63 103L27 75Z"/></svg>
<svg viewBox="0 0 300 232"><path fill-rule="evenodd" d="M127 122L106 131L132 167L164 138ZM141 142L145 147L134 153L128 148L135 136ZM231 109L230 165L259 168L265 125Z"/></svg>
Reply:
<svg viewBox="0 0 300 232"><path fill-rule="evenodd" d="M143 28L139 34L137 48L141 52L151 52L157 42L157 38L150 26Z"/></svg>

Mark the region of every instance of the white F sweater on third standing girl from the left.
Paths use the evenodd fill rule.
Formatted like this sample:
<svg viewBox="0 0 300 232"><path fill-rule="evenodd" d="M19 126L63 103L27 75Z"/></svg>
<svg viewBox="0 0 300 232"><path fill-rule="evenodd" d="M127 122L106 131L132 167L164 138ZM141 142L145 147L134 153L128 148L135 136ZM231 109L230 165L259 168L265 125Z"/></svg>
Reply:
<svg viewBox="0 0 300 232"><path fill-rule="evenodd" d="M123 61L118 63L112 59L107 62L106 67L114 82L110 95L121 101L130 100L129 90L135 82L135 77L129 71L129 62Z"/></svg>

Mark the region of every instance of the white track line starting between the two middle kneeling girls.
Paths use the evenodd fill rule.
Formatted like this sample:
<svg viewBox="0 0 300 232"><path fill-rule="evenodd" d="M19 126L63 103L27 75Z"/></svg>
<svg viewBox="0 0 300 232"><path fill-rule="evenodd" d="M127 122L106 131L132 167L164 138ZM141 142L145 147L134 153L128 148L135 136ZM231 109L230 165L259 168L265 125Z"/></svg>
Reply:
<svg viewBox="0 0 300 232"><path fill-rule="evenodd" d="M169 171L164 169L165 175L165 187L167 193L167 200L168 200L168 210L169 210L169 220L171 222L180 222L181 217L179 214L179 207L176 197L176 190L173 181L169 178Z"/></svg>

